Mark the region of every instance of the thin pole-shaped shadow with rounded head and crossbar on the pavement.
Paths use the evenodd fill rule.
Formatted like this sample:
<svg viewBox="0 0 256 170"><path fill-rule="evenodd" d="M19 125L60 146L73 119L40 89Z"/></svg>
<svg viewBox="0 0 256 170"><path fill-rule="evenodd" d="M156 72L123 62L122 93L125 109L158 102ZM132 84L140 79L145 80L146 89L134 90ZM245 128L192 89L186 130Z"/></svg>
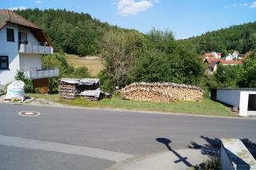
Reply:
<svg viewBox="0 0 256 170"><path fill-rule="evenodd" d="M193 166L192 164L190 164L189 161L187 161L187 159L188 159L187 157L181 156L178 152L176 152L174 149L172 149L170 147L171 140L166 139L166 138L162 138L162 137L159 137L156 140L159 143L164 144L166 146L166 148L168 148L170 150L170 152L173 152L174 155L178 157L178 160L174 161L175 164L178 164L178 163L182 162L183 164L186 164L187 167L192 167Z"/></svg>

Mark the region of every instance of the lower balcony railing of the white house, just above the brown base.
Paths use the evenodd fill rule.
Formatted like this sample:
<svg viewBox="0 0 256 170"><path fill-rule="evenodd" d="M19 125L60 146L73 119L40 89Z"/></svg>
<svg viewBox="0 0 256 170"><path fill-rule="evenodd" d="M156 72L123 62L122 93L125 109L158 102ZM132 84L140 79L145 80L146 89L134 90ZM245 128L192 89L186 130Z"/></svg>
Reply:
<svg viewBox="0 0 256 170"><path fill-rule="evenodd" d="M49 78L49 77L58 77L59 76L59 69L52 68L52 69L42 69L42 68L30 68L22 70L27 78L32 80L39 79L39 78Z"/></svg>

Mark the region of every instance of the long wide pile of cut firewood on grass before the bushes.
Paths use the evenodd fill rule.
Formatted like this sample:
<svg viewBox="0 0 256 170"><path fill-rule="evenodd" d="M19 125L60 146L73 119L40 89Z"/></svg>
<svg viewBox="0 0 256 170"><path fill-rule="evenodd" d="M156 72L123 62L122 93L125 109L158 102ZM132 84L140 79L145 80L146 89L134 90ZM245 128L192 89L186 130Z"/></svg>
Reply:
<svg viewBox="0 0 256 170"><path fill-rule="evenodd" d="M175 83L133 83L120 90L123 99L132 101L200 101L204 91L193 85Z"/></svg>

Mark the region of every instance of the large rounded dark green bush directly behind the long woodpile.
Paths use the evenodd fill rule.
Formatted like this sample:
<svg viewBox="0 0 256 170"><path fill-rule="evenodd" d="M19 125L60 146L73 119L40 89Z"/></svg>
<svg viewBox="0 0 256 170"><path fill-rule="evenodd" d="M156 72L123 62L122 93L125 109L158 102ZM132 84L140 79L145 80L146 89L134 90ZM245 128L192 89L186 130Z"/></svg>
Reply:
<svg viewBox="0 0 256 170"><path fill-rule="evenodd" d="M149 50L134 63L134 81L198 85L203 75L202 63L196 54L182 49L172 53Z"/></svg>

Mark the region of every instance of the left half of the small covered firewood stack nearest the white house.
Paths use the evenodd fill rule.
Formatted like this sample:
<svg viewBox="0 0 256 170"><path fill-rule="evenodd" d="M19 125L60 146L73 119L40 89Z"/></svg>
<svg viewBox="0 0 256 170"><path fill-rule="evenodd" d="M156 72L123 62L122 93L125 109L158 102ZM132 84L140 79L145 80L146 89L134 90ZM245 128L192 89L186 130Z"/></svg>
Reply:
<svg viewBox="0 0 256 170"><path fill-rule="evenodd" d="M58 85L60 97L65 100L75 99L75 97L78 95L77 86L77 84L70 84L60 81Z"/></svg>

